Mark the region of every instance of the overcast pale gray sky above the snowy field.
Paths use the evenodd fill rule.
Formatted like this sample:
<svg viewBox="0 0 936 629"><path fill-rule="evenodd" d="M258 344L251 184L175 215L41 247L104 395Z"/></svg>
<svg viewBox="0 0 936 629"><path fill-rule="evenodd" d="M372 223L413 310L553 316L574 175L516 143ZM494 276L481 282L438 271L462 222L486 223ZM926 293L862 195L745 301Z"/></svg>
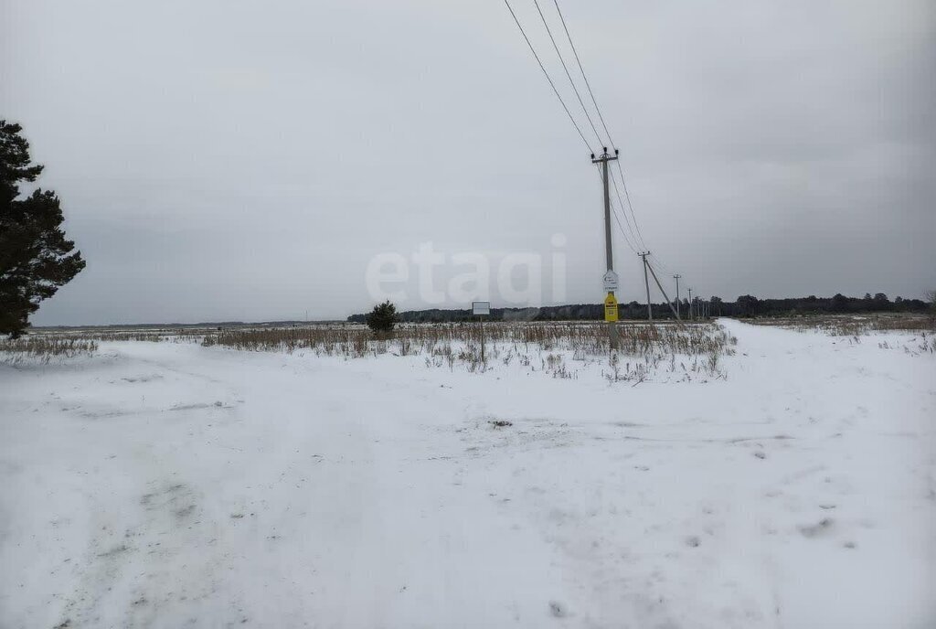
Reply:
<svg viewBox="0 0 936 629"><path fill-rule="evenodd" d="M587 124L532 0L511 4ZM343 318L372 304L373 256L428 241L494 268L559 251L561 301L602 299L600 181L502 0L0 6L0 116L88 260L37 324ZM936 287L932 0L560 6L683 286ZM619 299L640 300L615 246Z"/></svg>

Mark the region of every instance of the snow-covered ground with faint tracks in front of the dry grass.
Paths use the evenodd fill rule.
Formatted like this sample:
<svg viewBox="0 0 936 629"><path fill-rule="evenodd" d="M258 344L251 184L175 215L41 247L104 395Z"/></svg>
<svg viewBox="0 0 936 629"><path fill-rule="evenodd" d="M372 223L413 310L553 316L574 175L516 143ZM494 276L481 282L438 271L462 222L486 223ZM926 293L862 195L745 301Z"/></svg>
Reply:
<svg viewBox="0 0 936 629"><path fill-rule="evenodd" d="M936 626L936 357L723 325L708 382L0 366L0 627Z"/></svg>

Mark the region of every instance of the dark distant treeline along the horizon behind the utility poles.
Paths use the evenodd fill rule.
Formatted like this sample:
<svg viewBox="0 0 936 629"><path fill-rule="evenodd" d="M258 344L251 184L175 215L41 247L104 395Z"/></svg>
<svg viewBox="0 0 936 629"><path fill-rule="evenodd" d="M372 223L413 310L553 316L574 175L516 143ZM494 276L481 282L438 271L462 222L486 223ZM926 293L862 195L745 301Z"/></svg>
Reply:
<svg viewBox="0 0 936 629"><path fill-rule="evenodd" d="M699 303L694 305L699 311ZM669 305L665 302L651 304L654 319L674 318ZM734 301L724 301L713 297L709 300L711 316L796 316L796 315L845 315L860 313L927 313L930 304L923 300L904 300L900 297L891 301L884 293L867 294L863 298L845 297L796 297L782 300L757 299L751 295L742 295ZM680 303L680 314L687 318L689 300ZM622 319L646 319L647 304L630 301L618 306ZM352 323L364 323L367 315L351 315L347 318ZM580 321L600 320L605 316L601 303L577 303L565 306L543 306L541 308L491 308L489 320L494 321ZM443 323L450 321L469 321L474 317L470 310L408 310L399 314L404 323Z"/></svg>

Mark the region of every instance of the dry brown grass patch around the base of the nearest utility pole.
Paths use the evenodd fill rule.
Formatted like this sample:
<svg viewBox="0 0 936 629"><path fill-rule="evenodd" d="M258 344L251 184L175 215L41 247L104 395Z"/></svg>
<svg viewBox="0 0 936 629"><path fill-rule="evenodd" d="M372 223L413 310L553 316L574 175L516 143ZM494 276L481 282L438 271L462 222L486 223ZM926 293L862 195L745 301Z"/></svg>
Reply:
<svg viewBox="0 0 936 629"><path fill-rule="evenodd" d="M360 326L228 329L206 335L202 344L345 359L381 354L421 356L427 367L454 370L458 365L469 372L485 371L491 364L518 364L562 379L577 377L568 359L607 360L608 380L642 381L661 365L671 373L681 369L719 375L719 358L734 353L737 343L715 324L628 324L619 330L621 349L612 354L607 325L602 323L488 323L484 326L484 360L481 329L473 323L403 325L381 340Z"/></svg>

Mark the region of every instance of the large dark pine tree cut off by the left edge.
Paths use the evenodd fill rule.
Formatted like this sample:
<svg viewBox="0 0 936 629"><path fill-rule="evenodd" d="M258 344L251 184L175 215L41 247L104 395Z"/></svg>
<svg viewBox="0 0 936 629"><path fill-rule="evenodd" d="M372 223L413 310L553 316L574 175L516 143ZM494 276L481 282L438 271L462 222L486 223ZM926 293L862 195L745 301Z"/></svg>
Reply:
<svg viewBox="0 0 936 629"><path fill-rule="evenodd" d="M14 338L29 325L39 301L49 299L84 269L75 243L62 230L59 198L50 190L20 196L21 182L42 172L30 164L22 126L0 120L0 334Z"/></svg>

